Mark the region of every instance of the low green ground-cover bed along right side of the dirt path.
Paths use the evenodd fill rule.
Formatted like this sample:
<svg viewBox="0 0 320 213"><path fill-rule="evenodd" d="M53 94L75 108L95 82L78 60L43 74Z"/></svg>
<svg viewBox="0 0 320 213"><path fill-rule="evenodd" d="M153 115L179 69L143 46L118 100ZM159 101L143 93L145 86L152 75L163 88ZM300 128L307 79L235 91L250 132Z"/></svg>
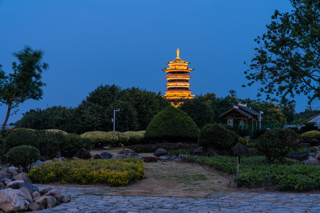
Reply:
<svg viewBox="0 0 320 213"><path fill-rule="evenodd" d="M232 175L237 172L236 157L184 156L182 160L208 165ZM280 191L319 189L319 168L289 159L283 164L272 164L265 157L242 157L237 183L248 188L277 186Z"/></svg>

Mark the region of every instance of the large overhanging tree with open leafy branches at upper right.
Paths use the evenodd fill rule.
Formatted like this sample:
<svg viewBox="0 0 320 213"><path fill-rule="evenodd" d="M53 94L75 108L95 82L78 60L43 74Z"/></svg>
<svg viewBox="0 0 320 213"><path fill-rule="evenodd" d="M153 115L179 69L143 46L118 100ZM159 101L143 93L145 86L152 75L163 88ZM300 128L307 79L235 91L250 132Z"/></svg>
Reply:
<svg viewBox="0 0 320 213"><path fill-rule="evenodd" d="M276 10L267 33L255 39L260 46L244 72L251 80L249 86L254 82L265 85L260 92L267 93L267 100L270 94L320 98L320 2L291 3L292 13Z"/></svg>

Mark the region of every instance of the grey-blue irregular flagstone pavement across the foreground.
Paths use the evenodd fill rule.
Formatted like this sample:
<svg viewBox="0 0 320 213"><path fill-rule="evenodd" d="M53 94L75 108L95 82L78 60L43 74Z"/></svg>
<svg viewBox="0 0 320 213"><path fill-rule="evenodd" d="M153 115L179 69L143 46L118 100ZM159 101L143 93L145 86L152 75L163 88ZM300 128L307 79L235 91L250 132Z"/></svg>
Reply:
<svg viewBox="0 0 320 213"><path fill-rule="evenodd" d="M320 212L320 194L310 193L221 192L210 198L181 198L104 195L115 191L110 187L59 186L59 189L68 193L72 201L35 212Z"/></svg>

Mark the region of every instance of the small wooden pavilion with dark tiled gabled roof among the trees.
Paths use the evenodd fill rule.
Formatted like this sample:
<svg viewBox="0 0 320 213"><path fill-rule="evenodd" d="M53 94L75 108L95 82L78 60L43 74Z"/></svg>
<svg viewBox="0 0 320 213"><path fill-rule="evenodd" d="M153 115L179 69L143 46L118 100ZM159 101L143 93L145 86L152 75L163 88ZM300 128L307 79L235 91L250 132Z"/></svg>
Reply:
<svg viewBox="0 0 320 213"><path fill-rule="evenodd" d="M247 107L247 103L238 103L237 106L235 106L234 104L232 105L233 107L230 110L226 111L225 113L219 116L221 119L226 119L226 123L231 126L237 126L234 125L236 120L239 125L239 128L241 129L248 129L248 120L252 123L252 131L253 126L258 127L258 121L260 116L259 112L252 110L251 107Z"/></svg>

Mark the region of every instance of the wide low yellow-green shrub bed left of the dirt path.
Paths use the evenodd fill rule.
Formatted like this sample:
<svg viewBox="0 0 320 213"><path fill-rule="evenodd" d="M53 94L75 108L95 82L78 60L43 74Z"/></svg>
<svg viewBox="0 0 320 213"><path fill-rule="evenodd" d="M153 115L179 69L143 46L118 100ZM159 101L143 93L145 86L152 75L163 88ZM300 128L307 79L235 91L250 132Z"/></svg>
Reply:
<svg viewBox="0 0 320 213"><path fill-rule="evenodd" d="M62 184L70 182L86 184L106 181L110 186L124 186L130 180L144 178L144 167L143 161L138 158L77 159L41 164L33 167L28 176L41 183L61 181Z"/></svg>

